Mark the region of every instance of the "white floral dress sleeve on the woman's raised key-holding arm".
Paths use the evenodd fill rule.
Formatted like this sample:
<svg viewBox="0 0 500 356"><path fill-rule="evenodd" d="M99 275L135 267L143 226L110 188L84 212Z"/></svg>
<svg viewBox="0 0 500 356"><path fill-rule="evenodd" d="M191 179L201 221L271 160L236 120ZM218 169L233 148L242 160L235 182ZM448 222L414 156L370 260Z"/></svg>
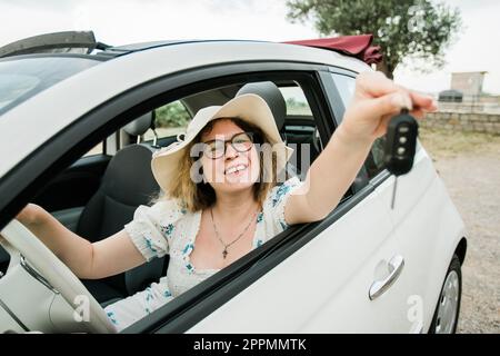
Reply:
<svg viewBox="0 0 500 356"><path fill-rule="evenodd" d="M284 220L284 206L290 195L302 184L298 177L292 177L281 186L273 187L266 198L263 209L272 221L274 234L289 228L290 225Z"/></svg>

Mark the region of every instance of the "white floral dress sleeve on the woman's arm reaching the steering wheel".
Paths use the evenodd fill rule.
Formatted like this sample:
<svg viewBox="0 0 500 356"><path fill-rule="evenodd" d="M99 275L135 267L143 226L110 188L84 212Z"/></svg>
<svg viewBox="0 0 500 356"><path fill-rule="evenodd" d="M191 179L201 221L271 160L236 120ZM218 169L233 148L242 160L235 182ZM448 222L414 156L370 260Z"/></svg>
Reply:
<svg viewBox="0 0 500 356"><path fill-rule="evenodd" d="M177 221L186 214L176 200L139 206L124 230L147 261L169 253Z"/></svg>

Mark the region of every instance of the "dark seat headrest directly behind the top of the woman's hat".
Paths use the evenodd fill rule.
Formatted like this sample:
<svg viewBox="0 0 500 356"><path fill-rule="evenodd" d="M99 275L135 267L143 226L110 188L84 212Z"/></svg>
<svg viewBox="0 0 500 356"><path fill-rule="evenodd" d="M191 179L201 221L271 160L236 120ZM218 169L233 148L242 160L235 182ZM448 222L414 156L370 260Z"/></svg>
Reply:
<svg viewBox="0 0 500 356"><path fill-rule="evenodd" d="M254 93L266 100L274 117L278 130L281 131L287 117L287 103L280 89L272 81L250 82L238 90L236 97L243 93Z"/></svg>

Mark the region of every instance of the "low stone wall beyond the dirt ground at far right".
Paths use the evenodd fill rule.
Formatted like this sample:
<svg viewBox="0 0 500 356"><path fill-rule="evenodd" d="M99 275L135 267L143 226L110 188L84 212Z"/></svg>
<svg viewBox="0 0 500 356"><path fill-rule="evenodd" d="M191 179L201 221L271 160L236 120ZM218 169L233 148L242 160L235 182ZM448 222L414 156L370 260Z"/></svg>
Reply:
<svg viewBox="0 0 500 356"><path fill-rule="evenodd" d="M423 128L500 135L499 113L430 112L420 121Z"/></svg>

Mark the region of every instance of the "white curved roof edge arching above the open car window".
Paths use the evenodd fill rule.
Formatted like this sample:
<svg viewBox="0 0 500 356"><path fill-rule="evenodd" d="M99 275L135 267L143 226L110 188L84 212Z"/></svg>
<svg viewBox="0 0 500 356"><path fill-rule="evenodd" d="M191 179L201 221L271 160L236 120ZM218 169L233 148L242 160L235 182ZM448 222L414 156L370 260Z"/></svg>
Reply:
<svg viewBox="0 0 500 356"><path fill-rule="evenodd" d="M0 118L0 131L23 139L0 140L1 152L13 152L2 157L0 177L56 132L130 88L194 68L254 61L317 63L353 72L370 69L364 62L337 52L261 41L176 41L131 48L127 56L78 72L7 111ZM33 125L37 130L26 129Z"/></svg>

